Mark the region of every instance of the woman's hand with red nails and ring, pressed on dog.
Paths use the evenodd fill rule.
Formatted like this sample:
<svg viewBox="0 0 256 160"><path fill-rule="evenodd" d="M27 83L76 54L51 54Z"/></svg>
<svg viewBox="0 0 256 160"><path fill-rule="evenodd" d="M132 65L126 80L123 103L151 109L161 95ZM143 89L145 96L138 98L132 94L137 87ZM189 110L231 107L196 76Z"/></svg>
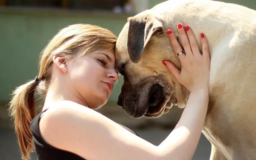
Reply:
<svg viewBox="0 0 256 160"><path fill-rule="evenodd" d="M182 27L182 24L178 25L179 34L185 50L185 53L178 56L181 63L181 71L169 61L163 61L163 64L168 67L179 83L185 86L190 92L202 88L208 89L210 56L207 39L201 33L203 45L203 54L201 54L191 28L185 26L185 29ZM172 30L168 30L168 34L175 53L177 54L183 51Z"/></svg>

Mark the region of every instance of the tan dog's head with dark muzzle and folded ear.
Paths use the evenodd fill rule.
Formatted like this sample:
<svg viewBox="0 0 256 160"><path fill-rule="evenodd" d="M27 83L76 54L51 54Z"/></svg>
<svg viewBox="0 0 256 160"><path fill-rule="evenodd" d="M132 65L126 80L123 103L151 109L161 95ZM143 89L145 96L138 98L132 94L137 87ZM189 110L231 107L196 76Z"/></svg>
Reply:
<svg viewBox="0 0 256 160"><path fill-rule="evenodd" d="M188 96L162 63L170 60L180 68L166 24L144 13L128 18L115 48L116 68L124 76L118 105L134 118L159 117L172 105L183 108Z"/></svg>

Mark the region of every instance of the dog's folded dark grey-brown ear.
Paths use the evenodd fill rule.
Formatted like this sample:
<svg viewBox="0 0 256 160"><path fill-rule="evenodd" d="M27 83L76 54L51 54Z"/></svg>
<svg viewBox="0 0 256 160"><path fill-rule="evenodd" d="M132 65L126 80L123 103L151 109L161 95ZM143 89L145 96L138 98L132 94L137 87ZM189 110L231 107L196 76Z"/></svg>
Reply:
<svg viewBox="0 0 256 160"><path fill-rule="evenodd" d="M164 34L162 23L149 16L129 17L127 33L127 51L133 63L141 60L143 51L153 35Z"/></svg>

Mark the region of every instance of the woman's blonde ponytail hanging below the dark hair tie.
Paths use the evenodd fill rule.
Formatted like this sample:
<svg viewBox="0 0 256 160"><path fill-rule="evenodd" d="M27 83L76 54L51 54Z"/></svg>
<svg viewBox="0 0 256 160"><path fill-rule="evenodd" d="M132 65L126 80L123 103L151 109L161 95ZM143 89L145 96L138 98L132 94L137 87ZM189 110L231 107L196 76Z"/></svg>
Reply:
<svg viewBox="0 0 256 160"><path fill-rule="evenodd" d="M10 117L14 121L14 129L17 134L21 157L23 160L28 160L30 158L30 152L34 148L30 123L36 116L34 102L36 87L37 82L35 80L17 87L13 91L13 97L9 103L9 113Z"/></svg>

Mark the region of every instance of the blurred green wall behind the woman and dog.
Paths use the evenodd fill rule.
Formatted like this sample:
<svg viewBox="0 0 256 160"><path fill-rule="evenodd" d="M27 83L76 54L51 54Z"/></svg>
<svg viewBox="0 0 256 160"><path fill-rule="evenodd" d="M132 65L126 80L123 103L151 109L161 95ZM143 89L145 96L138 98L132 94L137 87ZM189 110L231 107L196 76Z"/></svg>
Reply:
<svg viewBox="0 0 256 160"><path fill-rule="evenodd" d="M149 0L149 8L164 0ZM256 9L255 0L223 0ZM0 102L12 90L37 75L38 54L59 29L76 23L108 28L118 35L129 15L108 13L44 12L0 9ZM115 85L110 101L117 101L123 78Z"/></svg>

